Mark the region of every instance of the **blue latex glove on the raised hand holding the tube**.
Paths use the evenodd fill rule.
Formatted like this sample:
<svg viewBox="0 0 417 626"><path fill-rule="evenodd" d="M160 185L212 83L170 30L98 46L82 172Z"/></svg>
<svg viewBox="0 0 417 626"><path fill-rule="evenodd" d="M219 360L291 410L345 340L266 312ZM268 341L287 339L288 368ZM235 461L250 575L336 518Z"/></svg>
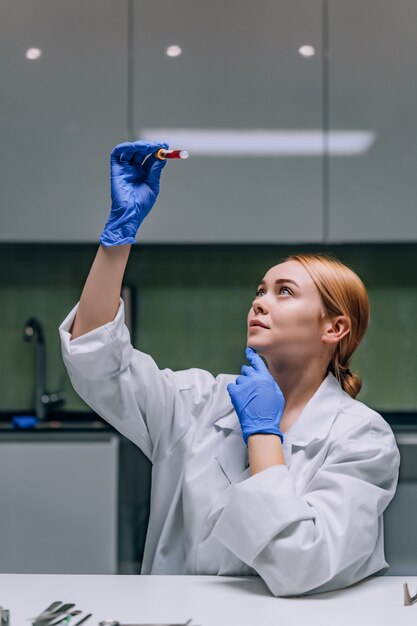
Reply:
<svg viewBox="0 0 417 626"><path fill-rule="evenodd" d="M161 171L166 165L153 155L159 148L168 147L167 143L135 141L114 148L110 156L112 206L100 237L102 246L136 243L138 228L158 196Z"/></svg>

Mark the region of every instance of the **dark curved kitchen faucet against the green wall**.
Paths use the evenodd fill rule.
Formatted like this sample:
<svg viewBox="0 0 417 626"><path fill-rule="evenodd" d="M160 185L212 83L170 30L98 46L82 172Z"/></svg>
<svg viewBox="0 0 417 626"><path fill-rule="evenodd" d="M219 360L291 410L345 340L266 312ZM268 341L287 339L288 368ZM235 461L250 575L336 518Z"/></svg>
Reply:
<svg viewBox="0 0 417 626"><path fill-rule="evenodd" d="M32 342L36 339L35 351L35 414L39 420L45 420L48 409L58 406L66 400L64 391L47 393L45 390L46 353L45 336L41 323L35 318L28 319L23 330L23 339Z"/></svg>

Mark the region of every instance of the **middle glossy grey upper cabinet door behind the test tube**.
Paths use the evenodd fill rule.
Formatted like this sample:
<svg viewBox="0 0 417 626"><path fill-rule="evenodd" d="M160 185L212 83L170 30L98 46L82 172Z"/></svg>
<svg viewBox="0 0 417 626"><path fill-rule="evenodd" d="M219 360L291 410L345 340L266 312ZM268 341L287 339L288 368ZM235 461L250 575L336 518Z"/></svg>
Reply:
<svg viewBox="0 0 417 626"><path fill-rule="evenodd" d="M136 138L190 152L141 240L322 241L321 1L135 0L133 37Z"/></svg>

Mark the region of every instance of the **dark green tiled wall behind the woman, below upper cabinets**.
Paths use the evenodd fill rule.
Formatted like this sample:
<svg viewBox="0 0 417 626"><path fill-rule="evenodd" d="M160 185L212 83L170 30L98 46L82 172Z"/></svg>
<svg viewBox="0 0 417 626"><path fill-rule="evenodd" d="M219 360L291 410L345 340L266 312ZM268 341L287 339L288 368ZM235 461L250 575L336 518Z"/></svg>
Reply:
<svg viewBox="0 0 417 626"><path fill-rule="evenodd" d="M34 345L23 326L37 317L47 342L47 389L68 393L65 410L88 410L61 361L58 325L79 299L96 244L0 245L0 410L29 410ZM135 288L135 345L159 367L239 373L246 316L266 270L294 252L336 255L364 280L371 324L353 361L359 399L376 409L417 409L417 244L141 245L125 282Z"/></svg>

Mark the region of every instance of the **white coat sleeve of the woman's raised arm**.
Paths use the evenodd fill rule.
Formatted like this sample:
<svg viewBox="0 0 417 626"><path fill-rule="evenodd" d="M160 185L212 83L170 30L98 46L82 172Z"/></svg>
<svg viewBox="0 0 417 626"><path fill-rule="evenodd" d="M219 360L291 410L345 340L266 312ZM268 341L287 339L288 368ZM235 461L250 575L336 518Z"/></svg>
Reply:
<svg viewBox="0 0 417 626"><path fill-rule="evenodd" d="M112 322L71 340L77 309L78 304L59 328L63 360L75 391L153 463L159 461L210 406L215 377L198 368L160 370L151 356L135 350L124 323L122 299Z"/></svg>

